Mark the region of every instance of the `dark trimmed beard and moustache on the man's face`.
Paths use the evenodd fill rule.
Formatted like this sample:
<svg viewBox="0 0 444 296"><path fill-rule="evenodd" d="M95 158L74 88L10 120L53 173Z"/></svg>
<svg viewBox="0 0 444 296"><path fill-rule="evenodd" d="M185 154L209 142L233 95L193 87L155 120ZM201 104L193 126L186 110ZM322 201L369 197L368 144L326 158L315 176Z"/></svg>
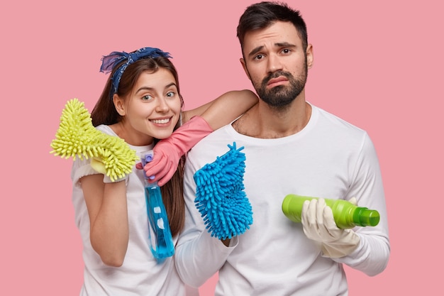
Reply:
<svg viewBox="0 0 444 296"><path fill-rule="evenodd" d="M253 83L257 94L260 99L272 107L284 107L289 105L296 99L297 96L302 92L305 87L307 80L308 69L306 63L304 65L304 72L302 75L296 79L290 72L277 71L273 72L262 80L260 86ZM278 85L277 87L272 87L267 89L267 84L270 80L277 78L279 76L287 77L289 80L289 86Z"/></svg>

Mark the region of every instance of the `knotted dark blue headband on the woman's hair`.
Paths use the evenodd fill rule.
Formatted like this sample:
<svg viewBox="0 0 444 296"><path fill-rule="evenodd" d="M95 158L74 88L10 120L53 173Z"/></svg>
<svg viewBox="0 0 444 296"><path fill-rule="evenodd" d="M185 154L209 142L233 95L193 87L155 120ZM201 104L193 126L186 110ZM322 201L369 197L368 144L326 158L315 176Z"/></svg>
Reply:
<svg viewBox="0 0 444 296"><path fill-rule="evenodd" d="M111 97L113 94L116 94L118 89L118 83L121 81L121 77L123 72L126 70L126 67L131 65L136 60L140 60L143 57L171 57L170 53L164 53L159 48L140 48L139 50L135 50L133 53L125 53L113 51L109 55L104 55L104 57L101 58L102 63L100 67L100 72L109 73L111 72L116 65L118 65L119 62L122 62L123 60L126 60L123 65L121 65L116 72L114 72L113 77L111 80L113 80L113 89L111 89Z"/></svg>

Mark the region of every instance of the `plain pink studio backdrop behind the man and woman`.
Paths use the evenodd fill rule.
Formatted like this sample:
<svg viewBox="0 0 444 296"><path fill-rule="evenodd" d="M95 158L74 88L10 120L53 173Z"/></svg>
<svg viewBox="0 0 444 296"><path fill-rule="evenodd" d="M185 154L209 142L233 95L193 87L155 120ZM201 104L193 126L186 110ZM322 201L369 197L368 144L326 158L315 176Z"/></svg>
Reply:
<svg viewBox="0 0 444 296"><path fill-rule="evenodd" d="M295 1L314 65L307 99L370 133L384 177L392 254L375 277L346 268L350 295L437 295L444 264L443 21L439 1ZM1 295L78 295L82 246L72 160L50 155L61 111L91 111L102 55L172 53L187 108L251 88L238 18L252 1L4 1L1 6ZM6 65L6 67L5 67ZM235 106L233 106L235 108ZM217 275L200 288L212 295Z"/></svg>

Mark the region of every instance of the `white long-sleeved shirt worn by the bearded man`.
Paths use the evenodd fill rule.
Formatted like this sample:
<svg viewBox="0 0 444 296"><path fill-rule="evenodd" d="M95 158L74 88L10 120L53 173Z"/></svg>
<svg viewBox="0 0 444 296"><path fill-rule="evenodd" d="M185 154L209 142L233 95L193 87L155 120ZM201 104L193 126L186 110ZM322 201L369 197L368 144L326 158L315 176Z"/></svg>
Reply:
<svg viewBox="0 0 444 296"><path fill-rule="evenodd" d="M245 194L253 221L226 247L205 229L194 205L193 176L233 142L244 147ZM177 270L192 286L219 271L216 295L347 295L343 263L369 275L387 265L387 214L372 141L362 129L316 106L309 124L284 138L252 138L231 125L214 131L188 153L184 192L187 216L176 248ZM377 209L381 218L375 227L354 229L360 245L349 256L326 258L319 243L306 238L302 225L284 216L287 194L356 197L358 205Z"/></svg>

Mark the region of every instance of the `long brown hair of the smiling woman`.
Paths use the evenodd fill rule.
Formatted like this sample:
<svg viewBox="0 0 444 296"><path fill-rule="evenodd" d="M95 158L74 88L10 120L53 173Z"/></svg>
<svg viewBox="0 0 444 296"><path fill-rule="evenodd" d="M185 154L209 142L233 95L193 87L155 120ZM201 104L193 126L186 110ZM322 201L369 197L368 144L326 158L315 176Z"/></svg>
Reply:
<svg viewBox="0 0 444 296"><path fill-rule="evenodd" d="M121 62L121 64L122 63L123 62ZM114 67L113 71L109 75L109 79L106 82L104 90L101 93L99 101L97 101L94 109L91 111L91 119L94 126L99 126L100 124L116 124L122 120L122 116L116 111L116 107L114 106L112 99L113 94L111 94L113 82L111 77L113 77L114 72L120 65L116 65L116 67ZM184 100L180 94L177 70L167 57L143 58L133 62L131 65L128 65L125 72L123 72L121 76L116 94L118 94L118 96L121 98L126 98L128 94L131 93L131 90L135 86L135 82L137 82L138 78L143 72L148 71L153 73L160 68L165 68L173 75L174 80L176 80L177 92L179 93L181 106L183 106ZM178 122L174 129L178 128L179 124L180 123ZM159 140L155 139L155 143L158 141ZM171 180L168 181L164 186L160 187L173 236L179 234L179 231L182 230L185 221L183 191L184 163L185 158L182 157Z"/></svg>

